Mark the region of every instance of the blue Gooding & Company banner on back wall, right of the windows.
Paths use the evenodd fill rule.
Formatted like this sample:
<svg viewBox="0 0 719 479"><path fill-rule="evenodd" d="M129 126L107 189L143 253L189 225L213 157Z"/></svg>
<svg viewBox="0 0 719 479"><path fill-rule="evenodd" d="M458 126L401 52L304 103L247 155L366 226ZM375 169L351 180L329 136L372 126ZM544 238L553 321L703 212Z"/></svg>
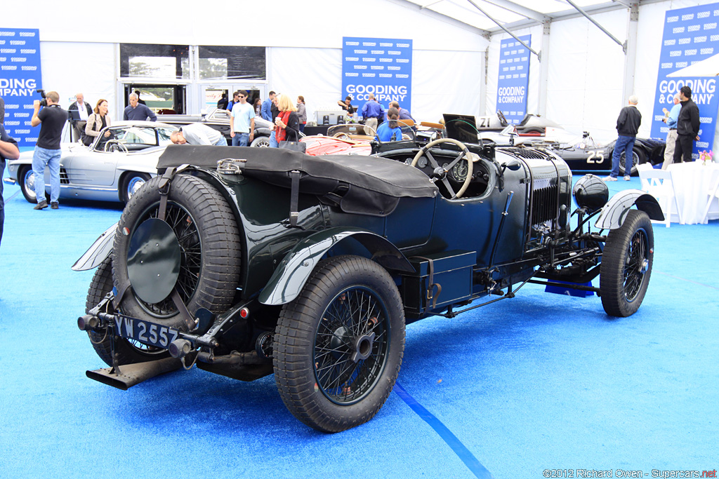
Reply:
<svg viewBox="0 0 719 479"><path fill-rule="evenodd" d="M385 110L390 101L412 111L412 40L342 38L342 99L359 108L370 93Z"/></svg>

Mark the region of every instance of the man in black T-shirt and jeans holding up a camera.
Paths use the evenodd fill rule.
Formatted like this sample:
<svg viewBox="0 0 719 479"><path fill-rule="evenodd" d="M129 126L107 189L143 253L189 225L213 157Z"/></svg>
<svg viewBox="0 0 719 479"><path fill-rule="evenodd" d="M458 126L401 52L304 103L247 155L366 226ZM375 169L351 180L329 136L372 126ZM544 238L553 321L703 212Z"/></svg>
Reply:
<svg viewBox="0 0 719 479"><path fill-rule="evenodd" d="M47 106L40 110L40 100L32 103L30 125L40 126L37 136L35 154L32 155L32 172L35 174L35 210L47 208L45 200L45 167L50 168L50 208L57 210L60 197L60 136L68 119L68 112L60 108L58 92L51 91L45 95Z"/></svg>

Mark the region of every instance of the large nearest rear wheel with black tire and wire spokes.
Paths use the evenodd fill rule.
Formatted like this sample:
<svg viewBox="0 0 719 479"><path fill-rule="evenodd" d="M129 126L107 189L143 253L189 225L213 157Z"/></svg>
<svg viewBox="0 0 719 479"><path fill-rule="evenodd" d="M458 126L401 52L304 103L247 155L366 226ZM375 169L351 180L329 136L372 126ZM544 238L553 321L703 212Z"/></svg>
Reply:
<svg viewBox="0 0 719 479"><path fill-rule="evenodd" d="M360 256L321 261L275 330L285 406L322 432L369 421L394 387L404 340L402 299L382 266Z"/></svg>

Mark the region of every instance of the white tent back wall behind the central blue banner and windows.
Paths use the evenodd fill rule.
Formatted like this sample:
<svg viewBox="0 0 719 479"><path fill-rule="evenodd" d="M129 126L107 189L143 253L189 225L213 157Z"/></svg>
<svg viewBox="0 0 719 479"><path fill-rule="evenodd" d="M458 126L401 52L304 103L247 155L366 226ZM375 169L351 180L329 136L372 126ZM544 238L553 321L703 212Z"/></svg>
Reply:
<svg viewBox="0 0 719 479"><path fill-rule="evenodd" d="M412 113L418 120L437 121L445 111L479 113L489 42L476 29L429 11L392 0L365 0L359 6L350 0L275 0L260 10L247 1L212 8L187 0L168 5L147 0L122 9L116 2L101 2L78 16L76 9L51 0L33 4L33 11L54 12L51 17L12 2L3 7L2 23L40 29L43 85L60 93L60 103L69 104L78 92L91 103L106 98L115 120L122 118L124 105L117 98L119 42L267 46L268 90L303 95L311 119L315 109L341 99L343 36L413 40ZM240 20L231 27L234 17ZM78 20L96 27L78 29ZM196 98L196 104L200 101Z"/></svg>

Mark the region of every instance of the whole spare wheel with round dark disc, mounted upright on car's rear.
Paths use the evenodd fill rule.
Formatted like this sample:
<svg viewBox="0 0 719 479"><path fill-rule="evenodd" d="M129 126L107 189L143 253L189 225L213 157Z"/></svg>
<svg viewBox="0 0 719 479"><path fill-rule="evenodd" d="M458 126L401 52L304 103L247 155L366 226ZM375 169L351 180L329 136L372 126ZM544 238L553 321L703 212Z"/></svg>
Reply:
<svg viewBox="0 0 719 479"><path fill-rule="evenodd" d="M239 282L239 229L224 197L189 175L173 178L160 218L161 180L149 180L125 206L112 253L114 284L119 294L131 286L122 297L126 315L186 330L173 296L191 315L199 308L224 312L232 305ZM143 236L152 228L160 228L161 241Z"/></svg>

